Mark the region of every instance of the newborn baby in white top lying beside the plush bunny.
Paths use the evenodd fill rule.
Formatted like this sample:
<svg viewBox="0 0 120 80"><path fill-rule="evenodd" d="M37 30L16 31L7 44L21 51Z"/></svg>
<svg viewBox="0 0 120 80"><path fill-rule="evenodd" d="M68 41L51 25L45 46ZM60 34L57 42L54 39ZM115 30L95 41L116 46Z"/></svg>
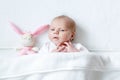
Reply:
<svg viewBox="0 0 120 80"><path fill-rule="evenodd" d="M80 52L88 50L80 43L72 43L76 33L76 24L68 16L55 17L48 31L50 42L41 47L40 52Z"/></svg>

